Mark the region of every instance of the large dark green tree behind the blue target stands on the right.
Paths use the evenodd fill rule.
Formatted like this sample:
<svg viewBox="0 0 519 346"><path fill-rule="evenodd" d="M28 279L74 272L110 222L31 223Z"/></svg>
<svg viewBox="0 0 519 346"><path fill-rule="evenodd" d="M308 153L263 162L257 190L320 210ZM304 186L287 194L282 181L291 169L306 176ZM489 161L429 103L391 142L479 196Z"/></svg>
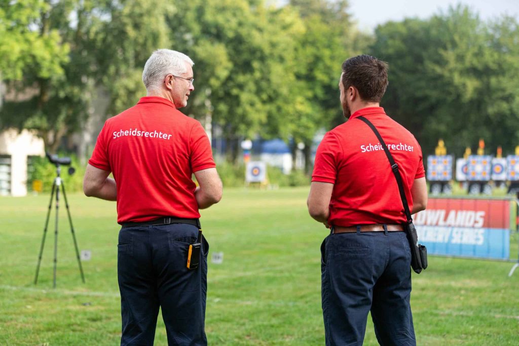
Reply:
<svg viewBox="0 0 519 346"><path fill-rule="evenodd" d="M515 147L515 19L485 23L457 6L428 20L380 25L375 36L372 53L390 66L382 105L415 134L424 153L432 153L439 138L456 155L480 138L491 151Z"/></svg>

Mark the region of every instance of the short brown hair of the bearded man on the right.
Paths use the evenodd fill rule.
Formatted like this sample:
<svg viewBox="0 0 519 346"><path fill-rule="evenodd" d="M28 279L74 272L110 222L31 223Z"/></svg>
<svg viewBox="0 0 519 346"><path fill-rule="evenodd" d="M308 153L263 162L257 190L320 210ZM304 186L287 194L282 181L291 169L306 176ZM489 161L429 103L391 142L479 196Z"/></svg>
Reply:
<svg viewBox="0 0 519 346"><path fill-rule="evenodd" d="M386 92L388 64L375 57L361 55L343 62L344 90L354 87L363 101L380 102Z"/></svg>

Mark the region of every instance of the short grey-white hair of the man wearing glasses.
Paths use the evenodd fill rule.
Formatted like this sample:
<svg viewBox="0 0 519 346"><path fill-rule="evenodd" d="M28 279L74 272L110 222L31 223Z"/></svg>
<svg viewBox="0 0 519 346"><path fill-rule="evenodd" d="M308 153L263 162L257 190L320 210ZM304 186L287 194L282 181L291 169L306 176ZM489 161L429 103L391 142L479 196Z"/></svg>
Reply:
<svg viewBox="0 0 519 346"><path fill-rule="evenodd" d="M144 65L142 81L146 90L160 89L164 77L168 74L176 76L185 73L186 66L183 62L193 66L195 63L186 54L171 49L157 49L152 53Z"/></svg>

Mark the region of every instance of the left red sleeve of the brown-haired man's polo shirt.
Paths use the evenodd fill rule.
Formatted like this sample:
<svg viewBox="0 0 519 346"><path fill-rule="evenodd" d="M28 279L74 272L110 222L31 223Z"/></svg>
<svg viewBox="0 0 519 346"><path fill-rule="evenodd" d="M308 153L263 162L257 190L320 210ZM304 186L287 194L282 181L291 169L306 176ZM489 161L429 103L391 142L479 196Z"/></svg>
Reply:
<svg viewBox="0 0 519 346"><path fill-rule="evenodd" d="M313 164L312 182L335 184L342 146L335 134L327 132L319 144Z"/></svg>

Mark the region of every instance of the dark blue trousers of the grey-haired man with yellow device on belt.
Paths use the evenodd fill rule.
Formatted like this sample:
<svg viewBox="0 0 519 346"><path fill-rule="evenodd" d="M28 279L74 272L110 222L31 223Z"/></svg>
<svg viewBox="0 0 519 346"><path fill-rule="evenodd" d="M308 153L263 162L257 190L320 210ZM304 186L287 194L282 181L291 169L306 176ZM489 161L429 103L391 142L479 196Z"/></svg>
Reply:
<svg viewBox="0 0 519 346"><path fill-rule="evenodd" d="M207 345L204 331L209 244L200 265L186 268L198 228L187 224L138 226L119 231L117 276L121 345L153 345L159 307L169 345Z"/></svg>

